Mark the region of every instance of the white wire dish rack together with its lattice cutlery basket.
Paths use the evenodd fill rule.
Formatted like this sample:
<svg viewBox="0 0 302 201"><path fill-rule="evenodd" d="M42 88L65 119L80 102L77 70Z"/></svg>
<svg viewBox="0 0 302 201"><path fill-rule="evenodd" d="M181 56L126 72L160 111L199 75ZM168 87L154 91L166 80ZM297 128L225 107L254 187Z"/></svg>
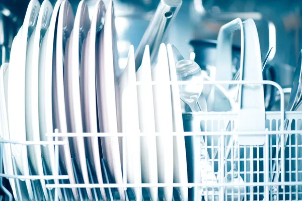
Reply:
<svg viewBox="0 0 302 201"><path fill-rule="evenodd" d="M170 83L161 84L196 84L198 82L188 82L188 81L177 81ZM259 85L259 84L271 84L274 85L280 93L280 111L278 112L265 112L265 131L253 131L253 129L238 132L232 131L234 125L238 121L238 112L196 112L196 113L185 113L183 114L183 124L184 133L169 133L173 136L185 136L185 139L195 138L202 136L205 141L205 149L209 153L209 158L205 158L202 161L212 164L212 172L214 173L217 181L213 180L208 182L200 183L158 183L158 184L130 184L127 183L126 174L126 160L125 151L123 151L123 184L114 184L110 181L110 177L107 171L106 161L102 159L103 168L103 178L104 184L98 184L91 171L91 163L87 159L89 176L91 184L83 184L75 177L77 184L68 184L68 175L61 172L59 168L59 147L66 145L66 140L68 137L106 137L106 136L119 136L125 139L129 134L127 133L58 133L56 129L54 133L46 134L49 137L53 137L53 142L33 142L33 141L8 141L0 139L0 161L3 160L2 147L10 144L19 144L20 146L54 146L55 147L55 161L56 161L56 173L53 175L30 175L23 176L18 175L16 171L16 164L13 158L14 175L8 175L1 173L0 177L13 178L17 183L17 193L20 191L20 181L29 179L32 185L35 185L34 194L35 197L40 192L40 187L36 185L36 180L45 179L46 187L48 189L51 200L58 200L58 188L61 188L63 196L66 200L71 200L72 193L71 187L77 187L81 200L86 200L87 195L84 192L84 188L92 188L93 196L95 200L102 200L100 195L99 187L106 188L106 195L108 200L119 200L119 195L117 192L117 187L124 187L126 200L135 200L134 193L131 187L142 187L143 189L143 199L150 200L147 191L147 187L165 187L173 186L173 200L182 200L180 194L176 187L184 186L188 187L189 190L200 191L200 199L198 200L300 200L302 198L302 144L301 136L302 133L302 119L300 118L302 112L284 112L284 92L282 88L275 82L272 81L204 81L203 84L248 84L248 85ZM140 83L137 82L137 85ZM152 84L156 84L153 82ZM243 116L241 116L243 117ZM241 119L240 123L249 125L250 121L254 121L257 116L249 116L247 119ZM288 119L291 125L290 131L284 131L283 127L279 126L284 122L284 119ZM226 131L226 125L231 122L231 131ZM198 132L194 128L204 125L204 131ZM286 141L286 135L288 134L288 141ZM131 133L131 135L145 136L145 135L155 135L159 136L161 133ZM167 135L167 133L166 133ZM227 157L227 147L231 137L234 136L263 136L265 142L263 145L232 145L230 149L231 157ZM280 142L278 143L278 136L280 136ZM61 139L61 140L59 140ZM122 140L122 146L125 146L125 140ZM200 146L200 144L199 144ZM274 150L279 147L285 147L285 149L280 149L280 153L275 155ZM211 157L214 154L214 150L218 150L218 157ZM239 157L236 159L233 157L234 151L239 151ZM123 149L124 150L124 149ZM234 161L238 162L238 171L240 176L243 178L244 182L238 182L234 179L234 182L225 182L224 176L231 169L231 164ZM224 165L224 162L226 165ZM277 164L277 168L273 170L273 163ZM44 164L45 165L45 164ZM2 167L2 166L1 166ZM1 172L3 169L0 169ZM75 168L73 164L73 170L75 172L79 171ZM277 178L273 179L273 174L277 175ZM234 172L231 173L232 177ZM75 175L77 175L75 173ZM1 179L0 188L9 197L9 200L13 199L12 194L7 190ZM189 176L190 180L190 176ZM53 182L54 181L54 182ZM159 190L160 191L160 190ZM43 196L42 196L43 197ZM241 197L241 199L239 198ZM242 199L243 198L243 199ZM163 200L161 193L159 193L159 200ZM196 200L196 199L194 199Z"/></svg>

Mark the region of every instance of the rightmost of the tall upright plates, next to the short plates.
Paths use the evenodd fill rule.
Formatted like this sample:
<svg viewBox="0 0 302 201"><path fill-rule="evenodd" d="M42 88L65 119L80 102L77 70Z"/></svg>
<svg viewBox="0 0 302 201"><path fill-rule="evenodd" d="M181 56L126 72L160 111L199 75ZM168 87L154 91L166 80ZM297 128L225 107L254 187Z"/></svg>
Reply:
<svg viewBox="0 0 302 201"><path fill-rule="evenodd" d="M100 36L99 65L97 66L97 101L100 121L100 132L117 133L117 109L116 94L117 86L117 47L114 27L113 3L110 1L106 14L105 24ZM115 183L123 183L121 157L118 137L101 138L102 151L107 162L110 174ZM118 188L121 200L125 200L123 187Z"/></svg>

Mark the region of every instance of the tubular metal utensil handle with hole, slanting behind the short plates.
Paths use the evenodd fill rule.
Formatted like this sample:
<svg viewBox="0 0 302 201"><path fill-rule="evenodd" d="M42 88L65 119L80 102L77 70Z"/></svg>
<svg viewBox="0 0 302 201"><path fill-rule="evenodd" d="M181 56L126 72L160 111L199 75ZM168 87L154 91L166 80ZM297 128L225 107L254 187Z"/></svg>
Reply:
<svg viewBox="0 0 302 201"><path fill-rule="evenodd" d="M136 70L141 64L144 48L146 45L150 49L150 62L156 61L159 47L169 29L171 22L175 19L182 0L161 0L160 4L154 14L153 19L150 21L137 49L135 52L135 66Z"/></svg>

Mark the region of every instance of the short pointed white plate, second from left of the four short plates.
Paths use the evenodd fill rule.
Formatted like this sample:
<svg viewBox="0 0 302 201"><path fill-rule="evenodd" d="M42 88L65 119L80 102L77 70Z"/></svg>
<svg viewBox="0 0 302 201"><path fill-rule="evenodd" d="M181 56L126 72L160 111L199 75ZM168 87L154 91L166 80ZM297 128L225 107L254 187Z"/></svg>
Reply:
<svg viewBox="0 0 302 201"><path fill-rule="evenodd" d="M155 132L153 89L149 46L145 47L141 66L136 71L136 80L143 82L137 86L137 102L140 132ZM158 166L156 137L142 136L140 138L141 177L143 183L158 183ZM158 200L158 188L148 188L152 200Z"/></svg>

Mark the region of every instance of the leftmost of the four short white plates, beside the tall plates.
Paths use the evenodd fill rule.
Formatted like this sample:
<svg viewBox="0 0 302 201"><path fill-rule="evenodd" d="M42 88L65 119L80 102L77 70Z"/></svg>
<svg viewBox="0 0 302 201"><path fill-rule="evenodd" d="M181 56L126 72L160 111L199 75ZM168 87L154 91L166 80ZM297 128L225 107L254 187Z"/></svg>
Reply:
<svg viewBox="0 0 302 201"><path fill-rule="evenodd" d="M120 76L120 109L122 118L122 132L139 132L137 91L135 77L134 47L130 46L127 66ZM141 183L140 170L140 137L126 137L126 161L127 161L127 180L128 183ZM125 165L125 164L124 164ZM141 187L132 188L136 200L141 200Z"/></svg>

